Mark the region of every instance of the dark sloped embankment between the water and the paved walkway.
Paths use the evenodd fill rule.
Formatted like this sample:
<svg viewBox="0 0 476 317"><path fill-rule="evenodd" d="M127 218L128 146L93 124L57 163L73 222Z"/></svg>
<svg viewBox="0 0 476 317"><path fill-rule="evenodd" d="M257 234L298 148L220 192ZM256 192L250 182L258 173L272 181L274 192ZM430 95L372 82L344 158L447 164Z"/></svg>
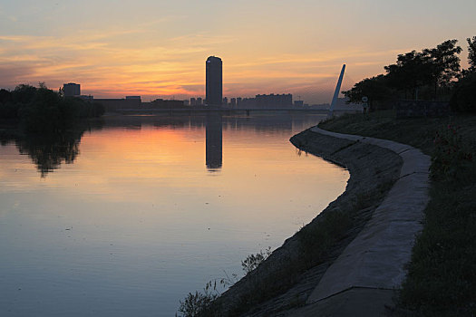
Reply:
<svg viewBox="0 0 476 317"><path fill-rule="evenodd" d="M348 168L351 177L338 197L257 270L223 293L216 304L228 315L296 315L327 269L371 219L400 176L393 151L306 130L291 139L298 149Z"/></svg>

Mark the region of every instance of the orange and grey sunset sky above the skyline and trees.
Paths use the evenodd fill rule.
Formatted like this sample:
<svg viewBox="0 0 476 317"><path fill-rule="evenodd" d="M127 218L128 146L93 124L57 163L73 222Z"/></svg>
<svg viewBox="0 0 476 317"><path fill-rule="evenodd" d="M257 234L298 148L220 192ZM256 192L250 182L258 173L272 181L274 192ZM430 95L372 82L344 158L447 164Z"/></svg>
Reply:
<svg viewBox="0 0 476 317"><path fill-rule="evenodd" d="M476 36L474 0L2 0L0 88L81 84L95 98L204 97L223 60L223 96L292 93L329 102L399 53Z"/></svg>

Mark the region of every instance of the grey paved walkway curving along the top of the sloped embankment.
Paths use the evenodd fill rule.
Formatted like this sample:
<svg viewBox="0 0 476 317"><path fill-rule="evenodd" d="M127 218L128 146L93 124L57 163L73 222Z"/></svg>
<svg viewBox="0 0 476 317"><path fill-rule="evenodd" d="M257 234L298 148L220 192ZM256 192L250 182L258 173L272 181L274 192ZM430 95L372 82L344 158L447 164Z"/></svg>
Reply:
<svg viewBox="0 0 476 317"><path fill-rule="evenodd" d="M400 288L403 282L404 266L410 262L415 235L423 228L423 210L429 200L430 158L419 149L390 140L340 134L317 127L312 131L390 149L403 159L400 178L382 205L327 269L307 299L307 304L313 307L332 306L335 316L355 315L359 311L356 303L361 304L361 312L381 315L384 304L391 302L387 294ZM381 297L386 300L377 300L379 296L375 292L382 293ZM372 295L365 295L367 293ZM345 298L344 303L340 301L340 311L335 311L335 305L326 304L334 303L337 298ZM357 300L359 298L361 300ZM374 307L368 307L369 304Z"/></svg>

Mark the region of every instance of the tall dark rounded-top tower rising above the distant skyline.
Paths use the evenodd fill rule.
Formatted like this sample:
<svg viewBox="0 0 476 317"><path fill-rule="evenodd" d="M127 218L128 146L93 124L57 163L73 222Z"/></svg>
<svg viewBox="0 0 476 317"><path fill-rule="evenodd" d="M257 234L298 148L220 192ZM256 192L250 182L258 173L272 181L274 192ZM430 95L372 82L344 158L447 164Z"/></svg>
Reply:
<svg viewBox="0 0 476 317"><path fill-rule="evenodd" d="M219 57L209 56L205 63L206 78L206 102L209 106L221 106L223 98L223 71Z"/></svg>

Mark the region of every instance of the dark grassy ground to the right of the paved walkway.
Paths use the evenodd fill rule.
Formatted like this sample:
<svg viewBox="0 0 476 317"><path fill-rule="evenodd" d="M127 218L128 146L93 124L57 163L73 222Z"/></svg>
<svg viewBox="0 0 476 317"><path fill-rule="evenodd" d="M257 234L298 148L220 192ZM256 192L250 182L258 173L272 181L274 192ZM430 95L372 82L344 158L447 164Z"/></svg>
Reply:
<svg viewBox="0 0 476 317"><path fill-rule="evenodd" d="M392 139L432 156L431 201L425 209L423 232L413 247L396 314L475 316L476 116L396 120L392 111L383 111L345 115L320 127ZM448 130L458 135L459 143L441 148L435 137ZM441 159L442 152L451 159ZM449 168L440 168L445 162Z"/></svg>

